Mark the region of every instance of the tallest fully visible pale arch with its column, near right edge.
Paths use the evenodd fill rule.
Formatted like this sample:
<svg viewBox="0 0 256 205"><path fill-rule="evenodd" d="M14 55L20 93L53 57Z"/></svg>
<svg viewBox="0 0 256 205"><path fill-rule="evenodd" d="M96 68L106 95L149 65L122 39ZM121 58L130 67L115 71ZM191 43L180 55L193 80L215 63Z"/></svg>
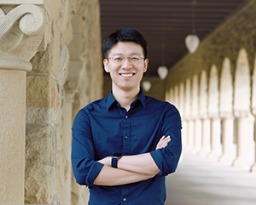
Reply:
<svg viewBox="0 0 256 205"><path fill-rule="evenodd" d="M253 141L254 119L250 112L250 68L244 48L241 48L237 57L234 85L237 156L233 164L236 167L247 167L252 163L247 158L247 151Z"/></svg>

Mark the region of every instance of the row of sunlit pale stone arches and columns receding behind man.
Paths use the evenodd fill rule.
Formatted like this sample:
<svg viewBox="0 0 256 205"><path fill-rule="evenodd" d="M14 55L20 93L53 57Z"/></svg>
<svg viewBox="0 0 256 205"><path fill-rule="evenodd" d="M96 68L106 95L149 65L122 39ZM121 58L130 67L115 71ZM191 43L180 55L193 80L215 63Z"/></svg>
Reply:
<svg viewBox="0 0 256 205"><path fill-rule="evenodd" d="M170 88L166 100L181 113L185 151L256 172L256 58L250 73L241 48L235 71L225 58L221 69L212 65Z"/></svg>

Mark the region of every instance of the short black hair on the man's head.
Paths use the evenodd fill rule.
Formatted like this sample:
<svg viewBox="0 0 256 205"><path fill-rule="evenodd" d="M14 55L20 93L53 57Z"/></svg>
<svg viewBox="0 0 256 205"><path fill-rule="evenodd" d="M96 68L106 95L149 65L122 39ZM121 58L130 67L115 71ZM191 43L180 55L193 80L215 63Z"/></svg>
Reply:
<svg viewBox="0 0 256 205"><path fill-rule="evenodd" d="M110 49L119 42L134 42L139 44L143 48L144 59L147 59L148 43L143 35L134 29L123 28L115 31L111 34L103 43L104 57L107 59Z"/></svg>

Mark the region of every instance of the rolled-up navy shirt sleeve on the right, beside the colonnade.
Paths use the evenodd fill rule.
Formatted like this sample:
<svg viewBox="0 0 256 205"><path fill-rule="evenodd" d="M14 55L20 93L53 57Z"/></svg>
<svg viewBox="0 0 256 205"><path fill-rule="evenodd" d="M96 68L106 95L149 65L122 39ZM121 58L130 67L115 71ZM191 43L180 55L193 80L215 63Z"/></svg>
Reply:
<svg viewBox="0 0 256 205"><path fill-rule="evenodd" d="M160 169L161 175L171 174L177 168L182 152L181 128L179 112L175 106L170 105L163 116L162 134L165 136L170 135L172 140L166 148L150 152L155 164Z"/></svg>

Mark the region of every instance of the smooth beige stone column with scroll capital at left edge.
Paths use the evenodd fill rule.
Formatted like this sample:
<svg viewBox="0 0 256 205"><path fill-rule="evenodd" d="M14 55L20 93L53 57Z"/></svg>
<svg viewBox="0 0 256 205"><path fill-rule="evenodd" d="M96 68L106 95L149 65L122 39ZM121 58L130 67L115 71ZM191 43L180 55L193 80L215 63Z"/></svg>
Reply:
<svg viewBox="0 0 256 205"><path fill-rule="evenodd" d="M38 6L4 2L0 3L0 202L23 205L26 71L32 70L29 60L42 41L44 16Z"/></svg>

